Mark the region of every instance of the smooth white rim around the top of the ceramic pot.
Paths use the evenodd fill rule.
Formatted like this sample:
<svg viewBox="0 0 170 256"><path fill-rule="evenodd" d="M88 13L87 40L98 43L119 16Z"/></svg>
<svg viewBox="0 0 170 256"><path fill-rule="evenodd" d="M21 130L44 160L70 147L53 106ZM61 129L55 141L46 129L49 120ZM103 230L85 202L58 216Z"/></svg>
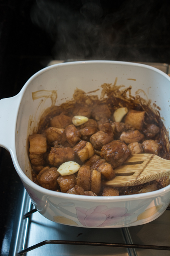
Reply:
<svg viewBox="0 0 170 256"><path fill-rule="evenodd" d="M125 62L125 61L106 61L106 60L73 61L73 62L66 62L66 63L60 63L60 64L54 64L54 65L48 66L48 67L43 68L40 71L36 72L34 75L32 75L28 79L28 81L25 83L25 85L23 86L21 91L19 92L20 102L22 101L23 94L25 93L25 91L26 91L27 87L29 86L29 84L31 83L31 81L34 80L37 76L39 76L43 72L46 72L46 71L48 71L50 69L53 69L53 68L56 68L58 66L83 65L83 64L89 64L89 63L90 64L117 64L117 65L138 66L138 67L141 67L141 68L147 68L147 69L151 69L151 70L163 75L170 82L170 77L167 74L165 74L164 72L160 71L157 68L154 68L152 66L148 66L146 64ZM16 115L16 120L17 120L17 116L18 116L18 113ZM16 130L16 124L15 124L15 130ZM100 203L100 202L105 202L105 201L107 201L107 202L109 202L109 201L120 202L120 201L131 201L131 200L137 200L137 199L147 199L147 198L153 198L153 197L157 197L157 196L163 196L166 193L170 192L170 185L168 185L164 188L161 188L159 190L153 191L153 192L134 194L134 195L106 196L105 198L102 197L102 196L97 196L97 197L96 196L84 196L84 195L82 196L82 195L71 195L71 194L67 194L67 193L56 192L56 191L53 191L53 190L48 190L46 188L40 187L39 185L37 185L36 183L31 181L31 179L29 179L26 176L26 174L20 168L20 165L19 165L19 162L18 162L18 159L17 159L16 145L15 145L13 150L9 149L9 152L11 153L11 157L12 157L12 161L14 163L15 170L19 174L20 178L27 185L29 185L29 187L33 188L37 192L40 192L40 193L42 193L46 196L54 196L54 197L63 198L63 199L73 199L73 200L76 200L76 201L82 201L82 200L83 201L93 201L93 202L95 201L96 203Z"/></svg>

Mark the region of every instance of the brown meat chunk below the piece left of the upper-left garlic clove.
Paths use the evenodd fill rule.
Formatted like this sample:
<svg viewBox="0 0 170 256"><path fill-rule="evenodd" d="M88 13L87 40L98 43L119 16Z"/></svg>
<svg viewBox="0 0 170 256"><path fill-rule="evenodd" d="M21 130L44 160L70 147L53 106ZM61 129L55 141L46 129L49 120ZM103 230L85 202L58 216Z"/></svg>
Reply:
<svg viewBox="0 0 170 256"><path fill-rule="evenodd" d="M45 131L45 135L49 143L57 141L58 144L63 144L66 141L65 129L49 127Z"/></svg>

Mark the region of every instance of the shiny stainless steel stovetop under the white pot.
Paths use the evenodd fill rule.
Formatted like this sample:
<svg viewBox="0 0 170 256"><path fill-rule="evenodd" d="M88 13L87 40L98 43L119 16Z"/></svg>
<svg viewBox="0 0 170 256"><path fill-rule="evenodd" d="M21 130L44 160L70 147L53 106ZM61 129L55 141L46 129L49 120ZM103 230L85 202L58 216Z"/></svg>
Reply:
<svg viewBox="0 0 170 256"><path fill-rule="evenodd" d="M56 64L63 61L52 61ZM170 66L162 63L145 63L170 74ZM45 240L59 240L61 244L46 244L28 251L26 256L169 256L170 255L170 210L166 210L156 220L130 228L91 229L66 226L47 220L34 211L31 200L23 188L9 256L17 256L21 250ZM33 209L25 218L24 214ZM168 207L170 209L170 207ZM69 244L67 241L72 241ZM83 241L83 243L81 242ZM96 242L91 246L91 242ZM76 244L77 243L77 244ZM124 247L105 247L102 243L123 244ZM89 244L89 245L84 245ZM125 248L134 244L135 248ZM144 246L140 249L136 245ZM169 247L169 250L146 249L147 245ZM118 245L117 245L118 246ZM145 248L146 247L146 248ZM150 247L149 247L150 248Z"/></svg>

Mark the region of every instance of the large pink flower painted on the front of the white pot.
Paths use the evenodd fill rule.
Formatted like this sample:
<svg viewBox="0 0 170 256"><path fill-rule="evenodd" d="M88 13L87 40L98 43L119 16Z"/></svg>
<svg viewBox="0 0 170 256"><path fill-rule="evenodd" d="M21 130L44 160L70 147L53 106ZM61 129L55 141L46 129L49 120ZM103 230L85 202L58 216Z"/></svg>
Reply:
<svg viewBox="0 0 170 256"><path fill-rule="evenodd" d="M76 207L77 218L86 227L104 227L115 225L134 213L127 213L125 207L97 206L89 210Z"/></svg>

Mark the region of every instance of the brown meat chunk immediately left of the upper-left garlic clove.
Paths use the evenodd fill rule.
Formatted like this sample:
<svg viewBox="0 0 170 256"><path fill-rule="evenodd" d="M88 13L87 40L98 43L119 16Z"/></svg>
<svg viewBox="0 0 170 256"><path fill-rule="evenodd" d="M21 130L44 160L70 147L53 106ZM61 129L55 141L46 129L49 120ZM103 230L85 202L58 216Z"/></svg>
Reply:
<svg viewBox="0 0 170 256"><path fill-rule="evenodd" d="M69 124L72 124L72 119L70 116L66 116L64 114L60 114L59 116L54 116L50 121L51 127L56 127L60 129L64 129Z"/></svg>

